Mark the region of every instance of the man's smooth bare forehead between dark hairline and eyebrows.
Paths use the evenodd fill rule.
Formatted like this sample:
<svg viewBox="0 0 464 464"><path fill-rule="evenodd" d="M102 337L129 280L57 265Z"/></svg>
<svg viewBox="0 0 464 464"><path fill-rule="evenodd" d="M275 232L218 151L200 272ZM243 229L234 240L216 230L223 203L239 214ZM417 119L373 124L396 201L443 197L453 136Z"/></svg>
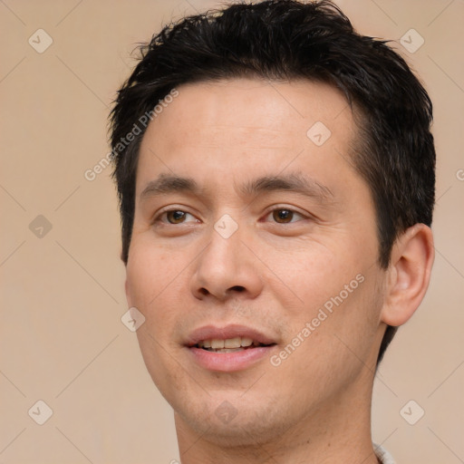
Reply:
<svg viewBox="0 0 464 464"><path fill-rule="evenodd" d="M214 166L224 175L243 175L289 164L311 170L347 164L353 115L342 92L332 86L234 79L189 83L177 90L142 140L138 194L160 170L185 176Z"/></svg>

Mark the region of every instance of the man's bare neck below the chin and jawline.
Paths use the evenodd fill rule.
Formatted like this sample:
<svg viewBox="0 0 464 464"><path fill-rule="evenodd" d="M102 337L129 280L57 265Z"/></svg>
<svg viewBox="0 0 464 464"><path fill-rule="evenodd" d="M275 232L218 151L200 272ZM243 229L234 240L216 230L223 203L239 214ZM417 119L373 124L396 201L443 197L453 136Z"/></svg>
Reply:
<svg viewBox="0 0 464 464"><path fill-rule="evenodd" d="M367 370L365 370L367 371ZM351 388L343 389L310 411L304 420L275 432L265 440L244 433L240 443L224 446L208 435L198 433L175 414L182 464L338 464L359 461L378 464L371 438L371 372L363 372ZM367 382L366 382L367 381ZM364 386L362 389L361 387ZM246 432L245 428L242 429ZM274 431L274 433L273 433Z"/></svg>

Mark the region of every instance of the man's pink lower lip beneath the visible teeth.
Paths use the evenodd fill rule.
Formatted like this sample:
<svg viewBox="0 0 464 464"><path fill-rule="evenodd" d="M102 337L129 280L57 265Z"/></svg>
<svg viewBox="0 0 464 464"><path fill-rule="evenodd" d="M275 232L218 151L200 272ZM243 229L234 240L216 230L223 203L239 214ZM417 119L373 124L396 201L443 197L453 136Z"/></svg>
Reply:
<svg viewBox="0 0 464 464"><path fill-rule="evenodd" d="M215 353L191 346L189 352L192 353L195 361L208 371L237 372L247 369L266 357L270 358L270 353L274 348L275 345L256 346L256 348L248 348L240 352Z"/></svg>

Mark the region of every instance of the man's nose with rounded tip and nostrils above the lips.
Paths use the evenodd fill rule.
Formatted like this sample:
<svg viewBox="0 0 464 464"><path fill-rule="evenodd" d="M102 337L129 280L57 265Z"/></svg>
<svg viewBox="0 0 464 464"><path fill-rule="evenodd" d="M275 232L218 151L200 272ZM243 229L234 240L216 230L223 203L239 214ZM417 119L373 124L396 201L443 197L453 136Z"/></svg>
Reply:
<svg viewBox="0 0 464 464"><path fill-rule="evenodd" d="M256 298L263 288L259 260L242 241L239 230L231 237L211 231L210 241L195 261L190 290L200 299Z"/></svg>

